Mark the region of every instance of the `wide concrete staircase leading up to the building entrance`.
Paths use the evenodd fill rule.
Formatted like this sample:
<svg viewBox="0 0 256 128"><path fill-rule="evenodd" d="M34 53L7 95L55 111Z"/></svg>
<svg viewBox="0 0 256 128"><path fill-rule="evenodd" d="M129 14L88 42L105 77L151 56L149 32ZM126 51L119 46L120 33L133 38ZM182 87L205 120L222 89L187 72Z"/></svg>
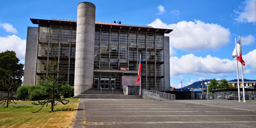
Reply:
<svg viewBox="0 0 256 128"><path fill-rule="evenodd" d="M101 91L101 93L100 93ZM129 98L129 99L142 99L138 95L124 95L123 89L90 89L72 98Z"/></svg>

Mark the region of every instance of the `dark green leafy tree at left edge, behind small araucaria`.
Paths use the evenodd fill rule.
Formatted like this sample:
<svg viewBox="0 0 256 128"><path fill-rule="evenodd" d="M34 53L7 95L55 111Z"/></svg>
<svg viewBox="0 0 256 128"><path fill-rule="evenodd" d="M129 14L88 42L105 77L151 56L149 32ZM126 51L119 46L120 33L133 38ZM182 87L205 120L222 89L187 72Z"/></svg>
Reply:
<svg viewBox="0 0 256 128"><path fill-rule="evenodd" d="M13 82L17 81L17 84L22 84L22 76L24 75L24 64L19 64L19 59L16 57L16 53L14 51L5 51L0 53L0 80L5 80L9 77L8 74L12 74ZM0 91L6 91L6 89L0 89Z"/></svg>

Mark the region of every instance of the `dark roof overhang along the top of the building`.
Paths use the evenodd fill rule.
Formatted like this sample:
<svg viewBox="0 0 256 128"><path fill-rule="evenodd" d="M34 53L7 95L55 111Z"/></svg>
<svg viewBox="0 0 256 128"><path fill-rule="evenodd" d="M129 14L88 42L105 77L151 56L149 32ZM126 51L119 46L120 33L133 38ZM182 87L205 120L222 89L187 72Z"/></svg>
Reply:
<svg viewBox="0 0 256 128"><path fill-rule="evenodd" d="M75 20L42 20L42 19L30 19L33 24L40 25L58 25L58 26L71 26L76 27ZM172 32L172 29L159 29L153 28L150 26L142 25L126 25L126 24L117 24L117 23L106 23L106 22L95 22L95 28L101 29L113 29L113 30L124 30L124 31L139 31L139 32L157 32L168 34Z"/></svg>

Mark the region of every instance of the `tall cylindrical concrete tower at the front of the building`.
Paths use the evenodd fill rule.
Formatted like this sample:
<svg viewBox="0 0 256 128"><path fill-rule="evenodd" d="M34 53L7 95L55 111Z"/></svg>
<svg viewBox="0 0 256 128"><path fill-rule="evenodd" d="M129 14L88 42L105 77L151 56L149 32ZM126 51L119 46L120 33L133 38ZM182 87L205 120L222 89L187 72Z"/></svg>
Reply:
<svg viewBox="0 0 256 128"><path fill-rule="evenodd" d="M74 95L92 88L94 62L95 5L77 5Z"/></svg>

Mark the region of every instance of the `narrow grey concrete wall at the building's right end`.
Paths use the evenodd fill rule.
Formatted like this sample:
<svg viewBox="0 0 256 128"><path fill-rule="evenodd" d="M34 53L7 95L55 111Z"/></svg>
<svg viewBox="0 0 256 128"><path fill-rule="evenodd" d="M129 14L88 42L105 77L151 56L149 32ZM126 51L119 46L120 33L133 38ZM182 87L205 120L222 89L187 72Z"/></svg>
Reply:
<svg viewBox="0 0 256 128"><path fill-rule="evenodd" d="M165 90L170 90L170 37L165 37L164 39L164 76L165 76ZM162 84L164 88L164 84Z"/></svg>

